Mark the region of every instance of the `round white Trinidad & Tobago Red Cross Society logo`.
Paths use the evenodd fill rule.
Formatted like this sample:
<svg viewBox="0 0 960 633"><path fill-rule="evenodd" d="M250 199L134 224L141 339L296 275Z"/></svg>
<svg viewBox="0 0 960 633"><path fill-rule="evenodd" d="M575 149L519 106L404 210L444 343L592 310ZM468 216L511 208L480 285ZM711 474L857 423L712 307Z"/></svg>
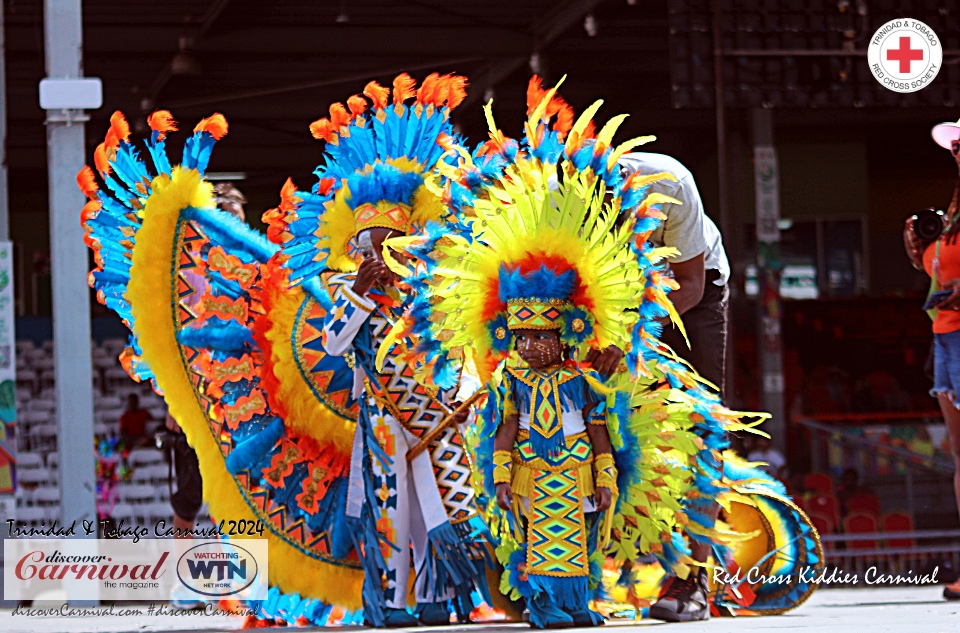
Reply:
<svg viewBox="0 0 960 633"><path fill-rule="evenodd" d="M912 18L890 20L873 34L867 47L870 72L894 92L916 92L940 72L943 45L929 26Z"/></svg>

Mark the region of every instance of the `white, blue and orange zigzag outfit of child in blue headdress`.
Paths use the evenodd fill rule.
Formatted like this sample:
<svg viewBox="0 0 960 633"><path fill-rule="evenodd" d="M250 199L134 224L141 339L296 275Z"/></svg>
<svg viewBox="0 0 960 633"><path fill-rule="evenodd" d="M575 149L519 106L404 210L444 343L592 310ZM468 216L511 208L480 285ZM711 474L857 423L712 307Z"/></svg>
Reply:
<svg viewBox="0 0 960 633"><path fill-rule="evenodd" d="M455 594L465 599L464 594L483 582L483 556L467 542L471 528L466 523L477 513L459 429L449 427L429 451L406 459L420 436L446 416L441 401L451 401L454 394L428 392L406 365L396 362L396 354L387 355L382 371L373 369L373 351L396 318L393 310L399 301L377 291L370 297L357 295L350 288L354 278L355 273L341 273L326 280L334 304L323 329L328 352L353 355L354 396L366 414L360 416L354 443L347 513L358 516L362 501L369 499L361 476L362 453L369 450L377 531L386 541L381 544L387 566L385 605L407 605L411 552L418 602L439 602ZM364 446L365 418L377 447Z"/></svg>

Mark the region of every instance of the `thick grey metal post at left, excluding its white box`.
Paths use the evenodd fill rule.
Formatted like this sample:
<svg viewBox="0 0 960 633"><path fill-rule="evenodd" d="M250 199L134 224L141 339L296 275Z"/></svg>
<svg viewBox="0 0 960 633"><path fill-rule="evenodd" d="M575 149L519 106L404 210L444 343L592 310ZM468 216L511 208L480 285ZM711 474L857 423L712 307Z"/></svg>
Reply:
<svg viewBox="0 0 960 633"><path fill-rule="evenodd" d="M81 0L44 0L47 77L81 77L82 42ZM79 222L84 197L76 182L84 165L85 118L79 110L47 112L60 509L64 525L76 521L78 538L85 536L83 521L97 525L90 291L87 247Z"/></svg>

